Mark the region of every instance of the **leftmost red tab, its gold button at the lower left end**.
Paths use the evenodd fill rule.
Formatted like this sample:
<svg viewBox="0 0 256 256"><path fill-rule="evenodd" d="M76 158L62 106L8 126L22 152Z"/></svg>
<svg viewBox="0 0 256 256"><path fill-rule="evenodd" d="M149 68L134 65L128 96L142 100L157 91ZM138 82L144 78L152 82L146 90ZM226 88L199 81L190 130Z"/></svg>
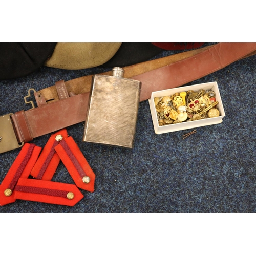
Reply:
<svg viewBox="0 0 256 256"><path fill-rule="evenodd" d="M40 154L41 147L25 143L0 185L0 205L15 202L14 191L19 178L28 178ZM6 189L11 195L6 196Z"/></svg>

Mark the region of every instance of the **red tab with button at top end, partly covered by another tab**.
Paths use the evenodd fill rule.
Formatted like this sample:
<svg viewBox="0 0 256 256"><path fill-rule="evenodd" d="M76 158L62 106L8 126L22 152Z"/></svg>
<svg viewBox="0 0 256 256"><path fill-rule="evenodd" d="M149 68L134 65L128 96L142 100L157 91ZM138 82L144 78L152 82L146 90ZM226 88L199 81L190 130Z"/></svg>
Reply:
<svg viewBox="0 0 256 256"><path fill-rule="evenodd" d="M38 180L50 181L56 172L60 158L55 152L54 147L59 144L55 137L61 135L63 139L68 137L67 129L62 129L54 133L46 143L41 155L39 156L31 175Z"/></svg>

